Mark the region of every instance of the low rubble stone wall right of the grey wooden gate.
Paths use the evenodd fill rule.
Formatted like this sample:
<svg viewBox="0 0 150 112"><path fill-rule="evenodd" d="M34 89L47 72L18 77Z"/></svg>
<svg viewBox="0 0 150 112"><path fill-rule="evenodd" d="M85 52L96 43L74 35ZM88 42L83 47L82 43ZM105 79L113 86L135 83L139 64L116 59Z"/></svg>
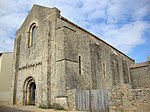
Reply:
<svg viewBox="0 0 150 112"><path fill-rule="evenodd" d="M121 85L109 90L110 112L149 112L150 89L132 89Z"/></svg>

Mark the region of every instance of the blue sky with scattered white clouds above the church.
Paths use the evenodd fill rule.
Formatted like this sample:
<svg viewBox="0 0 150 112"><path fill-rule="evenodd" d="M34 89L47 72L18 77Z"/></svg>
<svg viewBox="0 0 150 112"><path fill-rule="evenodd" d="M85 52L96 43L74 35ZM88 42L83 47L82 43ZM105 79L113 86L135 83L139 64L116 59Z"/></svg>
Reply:
<svg viewBox="0 0 150 112"><path fill-rule="evenodd" d="M150 55L150 0L0 0L0 52L11 52L17 29L33 4L61 15L136 62Z"/></svg>

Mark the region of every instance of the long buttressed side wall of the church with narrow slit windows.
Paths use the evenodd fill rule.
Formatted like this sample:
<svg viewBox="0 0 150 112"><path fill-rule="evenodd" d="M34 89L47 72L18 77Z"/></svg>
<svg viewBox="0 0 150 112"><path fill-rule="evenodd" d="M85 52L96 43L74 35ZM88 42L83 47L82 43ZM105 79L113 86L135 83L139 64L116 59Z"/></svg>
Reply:
<svg viewBox="0 0 150 112"><path fill-rule="evenodd" d="M60 72L61 67L57 69L57 75L63 81L61 86L66 85L61 92L64 96L67 95L68 104L74 104L74 99L69 96L74 89L109 88L113 94L116 94L120 84L131 83L129 66L134 63L132 59L63 17L57 18L56 29L58 39L56 59L58 64L64 63L62 66L61 64L57 66L65 66L65 71L62 71L64 70L62 68ZM62 75L65 76L65 80ZM59 84L59 81L56 81ZM59 97L62 96L61 92L57 92ZM119 108L122 108L123 102L120 98L122 97L119 96L119 102L115 105L120 105ZM110 108L114 107L113 101ZM75 109L75 105L69 108Z"/></svg>

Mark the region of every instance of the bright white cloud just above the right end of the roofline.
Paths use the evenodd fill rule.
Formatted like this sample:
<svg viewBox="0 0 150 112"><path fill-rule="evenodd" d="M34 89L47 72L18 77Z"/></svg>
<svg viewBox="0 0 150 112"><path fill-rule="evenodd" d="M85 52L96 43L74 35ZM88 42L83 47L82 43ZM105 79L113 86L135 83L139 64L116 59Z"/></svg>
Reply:
<svg viewBox="0 0 150 112"><path fill-rule="evenodd" d="M148 28L150 26L147 23L137 21L125 24L121 28L110 29L105 32L104 37L115 47L129 53L135 46L145 42L143 35Z"/></svg>

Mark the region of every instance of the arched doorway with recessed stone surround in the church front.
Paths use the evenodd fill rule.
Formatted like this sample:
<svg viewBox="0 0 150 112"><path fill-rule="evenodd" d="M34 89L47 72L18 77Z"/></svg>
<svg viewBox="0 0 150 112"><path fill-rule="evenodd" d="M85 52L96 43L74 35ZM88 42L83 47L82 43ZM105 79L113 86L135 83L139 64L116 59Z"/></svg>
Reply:
<svg viewBox="0 0 150 112"><path fill-rule="evenodd" d="M24 83L24 105L35 105L36 84L33 77L28 77Z"/></svg>

